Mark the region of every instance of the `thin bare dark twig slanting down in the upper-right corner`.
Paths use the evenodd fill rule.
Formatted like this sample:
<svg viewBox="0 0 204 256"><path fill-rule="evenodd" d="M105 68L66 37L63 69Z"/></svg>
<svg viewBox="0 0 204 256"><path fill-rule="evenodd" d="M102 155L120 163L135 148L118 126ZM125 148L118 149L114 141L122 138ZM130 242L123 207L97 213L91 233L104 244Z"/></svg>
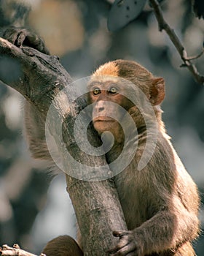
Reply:
<svg viewBox="0 0 204 256"><path fill-rule="evenodd" d="M200 73L197 71L197 68L195 67L195 64L192 64L193 59L197 59L200 56L203 55L204 49L202 53L195 57L187 57L187 51L184 49L184 46L181 44L180 40L178 39L176 33L173 31L173 29L170 28L168 23L165 21L162 10L160 8L160 4L157 0L149 0L152 4L152 8L154 10L154 15L157 18L157 22L159 25L159 30L165 30L168 36L170 37L171 42L173 42L173 45L176 47L176 50L178 51L179 55L181 56L182 61L184 61L184 64L181 65L181 67L187 67L189 71L194 76L197 83L204 84L204 76L200 75Z"/></svg>

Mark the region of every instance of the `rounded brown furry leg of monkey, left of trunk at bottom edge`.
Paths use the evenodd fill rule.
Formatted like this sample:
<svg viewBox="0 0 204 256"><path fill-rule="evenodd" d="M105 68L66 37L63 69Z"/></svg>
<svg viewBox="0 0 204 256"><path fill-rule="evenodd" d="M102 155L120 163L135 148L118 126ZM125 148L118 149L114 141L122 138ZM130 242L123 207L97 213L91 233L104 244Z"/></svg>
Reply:
<svg viewBox="0 0 204 256"><path fill-rule="evenodd" d="M47 256L83 256L79 245L71 236L58 236L52 239L42 250Z"/></svg>

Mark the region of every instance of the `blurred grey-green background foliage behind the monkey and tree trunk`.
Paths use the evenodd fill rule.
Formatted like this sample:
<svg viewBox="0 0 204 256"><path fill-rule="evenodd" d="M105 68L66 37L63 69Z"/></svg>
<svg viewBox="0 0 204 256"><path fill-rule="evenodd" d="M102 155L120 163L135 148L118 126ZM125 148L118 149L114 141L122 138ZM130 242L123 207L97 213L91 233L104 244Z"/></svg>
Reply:
<svg viewBox="0 0 204 256"><path fill-rule="evenodd" d="M105 61L132 59L166 81L163 119L173 145L195 179L204 202L204 88L195 83L165 32L158 31L146 5L136 20L117 32L106 26L106 0L0 0L0 26L26 26L40 34L52 55L60 56L71 77L90 75ZM166 20L189 56L203 48L204 21L195 18L189 0L162 1ZM24 17L25 16L25 17ZM204 74L203 58L196 60ZM1 67L0 67L1 68ZM75 217L63 175L52 177L31 159L23 138L23 97L0 85L0 244L18 243L39 253L55 236L75 236ZM200 209L204 230L204 208ZM204 254L204 237L195 242Z"/></svg>

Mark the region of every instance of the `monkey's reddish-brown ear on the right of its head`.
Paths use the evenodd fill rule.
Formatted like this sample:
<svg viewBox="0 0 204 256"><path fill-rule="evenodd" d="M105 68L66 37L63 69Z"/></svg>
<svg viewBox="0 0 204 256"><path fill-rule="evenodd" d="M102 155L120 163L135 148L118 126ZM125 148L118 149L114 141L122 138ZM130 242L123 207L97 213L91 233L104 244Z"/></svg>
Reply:
<svg viewBox="0 0 204 256"><path fill-rule="evenodd" d="M152 105L160 105L165 97L165 80L163 78L153 78L150 88L150 102Z"/></svg>

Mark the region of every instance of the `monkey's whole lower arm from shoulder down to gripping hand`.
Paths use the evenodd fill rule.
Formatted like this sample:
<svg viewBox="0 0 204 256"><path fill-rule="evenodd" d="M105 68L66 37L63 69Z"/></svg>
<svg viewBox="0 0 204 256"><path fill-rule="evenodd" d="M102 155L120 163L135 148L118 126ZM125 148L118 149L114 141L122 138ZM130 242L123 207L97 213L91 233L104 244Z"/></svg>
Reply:
<svg viewBox="0 0 204 256"><path fill-rule="evenodd" d="M156 169L153 170L148 165L146 170L141 170L138 178L144 189L144 196L141 198L146 200L141 205L146 205L146 211L152 213L146 222L134 230L114 231L119 242L110 250L111 255L141 256L165 251L176 252L185 246L192 253L181 255L194 255L189 242L197 236L199 225L197 189L173 148L166 152L165 148L169 148L166 142L161 147L162 151L156 148L149 165L153 167L154 163L160 162L162 168L158 169L155 165ZM169 162L168 157L176 163L172 160Z"/></svg>

